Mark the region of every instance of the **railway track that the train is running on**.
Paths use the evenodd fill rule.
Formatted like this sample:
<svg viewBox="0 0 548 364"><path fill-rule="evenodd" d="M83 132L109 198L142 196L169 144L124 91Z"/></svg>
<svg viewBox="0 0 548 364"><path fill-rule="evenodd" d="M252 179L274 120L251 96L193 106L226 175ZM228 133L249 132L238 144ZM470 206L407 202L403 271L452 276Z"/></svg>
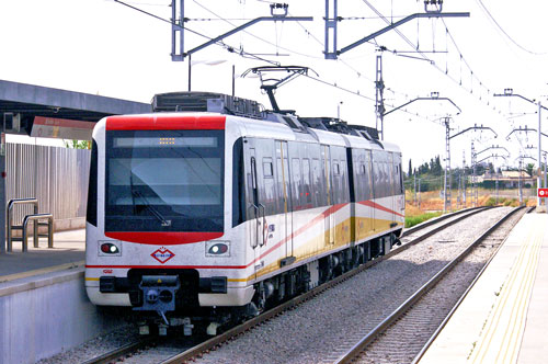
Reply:
<svg viewBox="0 0 548 364"><path fill-rule="evenodd" d="M336 278L327 282L298 297L295 297L262 315L243 322L242 325L229 329L228 331L204 340L201 343L185 343L182 344L176 340L161 340L161 338L147 338L142 341L128 344L124 348L117 349L110 353L103 354L101 356L94 357L87 361L84 364L99 364L99 363L162 363L162 364L174 364L174 363L187 363L190 361L202 357L203 355L220 348L222 344L229 342L233 338L242 335L247 331L254 327L261 326L274 317L282 315L284 311L290 310L310 300L311 298L320 295L322 292L330 289L345 282L353 276L359 274L361 272L370 269L372 266L385 261L393 255L397 255L407 249L413 247L414 244L423 241L424 239L433 236L443 229L453 226L466 218L469 218L478 213L484 212L486 207L470 208L453 214L443 215L436 219L423 223L414 228L407 229L402 234L401 242L402 244L396 247L388 254L379 257L359 268L347 272Z"/></svg>

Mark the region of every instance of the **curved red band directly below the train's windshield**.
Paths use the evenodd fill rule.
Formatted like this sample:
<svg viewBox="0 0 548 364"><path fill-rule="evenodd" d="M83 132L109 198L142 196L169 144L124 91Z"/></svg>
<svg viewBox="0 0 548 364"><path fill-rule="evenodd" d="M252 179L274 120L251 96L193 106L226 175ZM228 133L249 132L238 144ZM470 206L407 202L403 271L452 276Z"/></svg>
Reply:
<svg viewBox="0 0 548 364"><path fill-rule="evenodd" d="M224 232L151 232L151 231L105 231L105 236L153 246L174 246L220 238Z"/></svg>

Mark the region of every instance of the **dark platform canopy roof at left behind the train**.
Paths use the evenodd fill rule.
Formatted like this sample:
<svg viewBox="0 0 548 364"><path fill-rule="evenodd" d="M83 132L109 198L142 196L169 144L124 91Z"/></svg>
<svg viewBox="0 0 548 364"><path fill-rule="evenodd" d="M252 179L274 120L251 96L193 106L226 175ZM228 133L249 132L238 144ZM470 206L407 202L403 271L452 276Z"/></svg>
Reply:
<svg viewBox="0 0 548 364"><path fill-rule="evenodd" d="M21 134L31 134L36 116L96 123L151 111L148 103L0 80L0 123L4 113L20 114Z"/></svg>

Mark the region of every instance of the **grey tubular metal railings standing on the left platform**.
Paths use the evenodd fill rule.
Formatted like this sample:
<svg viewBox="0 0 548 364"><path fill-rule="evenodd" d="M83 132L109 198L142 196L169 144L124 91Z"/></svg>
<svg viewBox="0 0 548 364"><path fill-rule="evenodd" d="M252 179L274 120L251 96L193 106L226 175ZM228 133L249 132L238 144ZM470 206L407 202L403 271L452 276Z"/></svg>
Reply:
<svg viewBox="0 0 548 364"><path fill-rule="evenodd" d="M15 205L23 205L23 204L32 204L34 205L34 214L32 215L26 215L23 218L23 224L22 225L13 225L13 206ZM41 219L46 219L47 223L39 223L38 220ZM27 241L28 241L28 236L27 236L27 226L28 221L33 221L33 239L34 239L34 248L38 248L38 238L39 237L47 237L47 246L48 248L54 247L54 217L52 214L38 214L38 200L37 198L13 198L8 202L8 205L5 207L5 220L8 225L7 229L7 241L8 241L8 249L7 251L12 251L13 250L13 241L22 241L22 251L25 252L27 250ZM38 234L38 227L39 226L47 226L47 235L39 235ZM13 230L22 230L22 237L13 237Z"/></svg>

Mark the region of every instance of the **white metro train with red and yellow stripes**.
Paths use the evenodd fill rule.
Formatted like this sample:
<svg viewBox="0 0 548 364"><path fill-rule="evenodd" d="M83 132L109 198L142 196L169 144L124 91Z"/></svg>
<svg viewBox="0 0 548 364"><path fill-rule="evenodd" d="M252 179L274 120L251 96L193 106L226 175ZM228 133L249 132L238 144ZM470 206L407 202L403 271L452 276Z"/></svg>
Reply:
<svg viewBox="0 0 548 364"><path fill-rule="evenodd" d="M387 253L400 149L375 129L215 93L159 94L93 130L85 289L139 331L231 322Z"/></svg>

